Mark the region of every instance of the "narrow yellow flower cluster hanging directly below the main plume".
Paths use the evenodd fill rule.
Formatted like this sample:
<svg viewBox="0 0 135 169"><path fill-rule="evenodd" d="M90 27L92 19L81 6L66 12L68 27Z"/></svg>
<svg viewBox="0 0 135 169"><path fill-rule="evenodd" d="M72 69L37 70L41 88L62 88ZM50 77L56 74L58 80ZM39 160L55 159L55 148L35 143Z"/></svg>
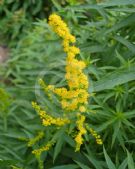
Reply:
<svg viewBox="0 0 135 169"><path fill-rule="evenodd" d="M83 135L86 133L86 129L84 127L85 116L78 114L78 120L76 122L77 129L79 130L77 136L75 137L76 141L76 149L75 151L79 151L81 145L83 144Z"/></svg>

